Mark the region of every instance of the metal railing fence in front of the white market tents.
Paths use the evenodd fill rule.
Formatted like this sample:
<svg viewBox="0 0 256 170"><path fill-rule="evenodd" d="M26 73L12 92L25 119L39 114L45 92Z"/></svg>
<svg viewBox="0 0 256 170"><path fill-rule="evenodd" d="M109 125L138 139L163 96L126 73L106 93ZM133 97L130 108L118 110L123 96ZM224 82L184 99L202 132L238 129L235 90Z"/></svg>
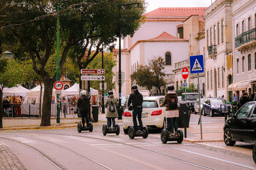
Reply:
<svg viewBox="0 0 256 170"><path fill-rule="evenodd" d="M41 105L41 107L40 107ZM3 104L3 117L41 117L42 103ZM51 104L51 117L57 116L56 103ZM77 103L62 102L60 117L77 117Z"/></svg>

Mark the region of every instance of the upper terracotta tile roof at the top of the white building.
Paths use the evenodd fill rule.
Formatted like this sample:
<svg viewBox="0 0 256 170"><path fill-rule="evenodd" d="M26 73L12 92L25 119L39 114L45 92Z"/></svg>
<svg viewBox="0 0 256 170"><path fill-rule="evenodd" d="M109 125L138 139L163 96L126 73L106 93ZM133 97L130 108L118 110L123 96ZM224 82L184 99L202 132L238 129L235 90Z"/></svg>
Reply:
<svg viewBox="0 0 256 170"><path fill-rule="evenodd" d="M189 17L190 15L204 16L206 7L194 7L194 8L157 8L154 11L146 13L144 16L148 18L157 17Z"/></svg>

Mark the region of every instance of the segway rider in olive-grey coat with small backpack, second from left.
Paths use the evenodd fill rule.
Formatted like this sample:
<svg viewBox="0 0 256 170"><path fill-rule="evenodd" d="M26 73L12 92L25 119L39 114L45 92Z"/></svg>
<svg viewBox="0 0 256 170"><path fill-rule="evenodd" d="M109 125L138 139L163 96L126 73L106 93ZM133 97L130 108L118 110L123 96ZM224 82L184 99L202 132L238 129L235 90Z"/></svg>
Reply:
<svg viewBox="0 0 256 170"><path fill-rule="evenodd" d="M106 118L108 120L108 129L111 128L111 121L113 124L113 129L115 129L116 127L116 122L115 122L115 118L118 117L118 113L117 113L117 100L113 95L113 91L109 91L108 92L108 99L105 102L105 107L107 108L107 114L106 114Z"/></svg>

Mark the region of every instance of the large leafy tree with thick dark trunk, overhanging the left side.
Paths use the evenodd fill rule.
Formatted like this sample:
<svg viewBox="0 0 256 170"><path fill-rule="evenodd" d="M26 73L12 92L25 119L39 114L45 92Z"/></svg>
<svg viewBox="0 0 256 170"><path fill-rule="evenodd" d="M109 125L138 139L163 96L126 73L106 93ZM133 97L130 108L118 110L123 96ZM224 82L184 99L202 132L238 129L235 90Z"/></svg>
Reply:
<svg viewBox="0 0 256 170"><path fill-rule="evenodd" d="M122 7L122 4L134 2L140 2L141 8ZM30 57L34 71L44 82L41 126L51 125L51 96L56 71L53 65L49 66L54 63L52 57L56 56L57 3L61 9L61 71L68 56L76 59L79 69L86 68L99 53L102 43L108 45L115 41L122 24L122 35L132 35L138 29L144 11L142 0L1 1L1 15L7 17L0 18L3 23L0 41L4 46L14 46L13 53L18 59ZM120 10L125 14L122 18Z"/></svg>

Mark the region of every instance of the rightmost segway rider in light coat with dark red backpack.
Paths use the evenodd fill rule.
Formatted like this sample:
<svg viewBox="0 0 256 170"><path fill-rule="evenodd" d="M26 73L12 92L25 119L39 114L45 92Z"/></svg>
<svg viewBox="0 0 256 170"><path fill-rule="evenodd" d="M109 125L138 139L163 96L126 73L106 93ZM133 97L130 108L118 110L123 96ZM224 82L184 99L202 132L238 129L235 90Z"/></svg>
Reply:
<svg viewBox="0 0 256 170"><path fill-rule="evenodd" d="M175 130L175 135L177 135L178 129L178 97L176 92L174 92L173 85L168 86L168 92L164 96L164 102L161 104L161 107L166 105L166 120L167 120L167 130L172 132L172 125Z"/></svg>

